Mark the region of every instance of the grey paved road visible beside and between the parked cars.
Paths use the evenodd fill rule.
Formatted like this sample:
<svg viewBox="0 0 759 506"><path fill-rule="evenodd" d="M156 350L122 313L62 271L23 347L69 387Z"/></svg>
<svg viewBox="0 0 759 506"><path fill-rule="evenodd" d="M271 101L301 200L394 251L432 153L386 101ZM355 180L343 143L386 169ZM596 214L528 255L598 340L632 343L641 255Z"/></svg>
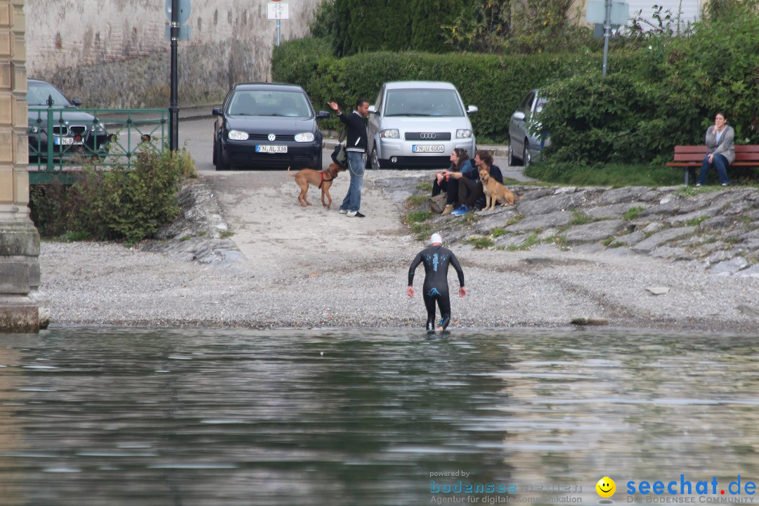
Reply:
<svg viewBox="0 0 759 506"><path fill-rule="evenodd" d="M187 146L195 160L197 170L202 174L216 173L213 167L213 118L186 119L179 122L179 144ZM332 143L329 143L333 145ZM496 152L505 152L503 146L488 146ZM324 150L323 168L327 168L330 162L329 156L332 148ZM495 163L502 171L505 178L517 181L531 181L523 174L524 167L509 167L509 160L505 156L496 156Z"/></svg>

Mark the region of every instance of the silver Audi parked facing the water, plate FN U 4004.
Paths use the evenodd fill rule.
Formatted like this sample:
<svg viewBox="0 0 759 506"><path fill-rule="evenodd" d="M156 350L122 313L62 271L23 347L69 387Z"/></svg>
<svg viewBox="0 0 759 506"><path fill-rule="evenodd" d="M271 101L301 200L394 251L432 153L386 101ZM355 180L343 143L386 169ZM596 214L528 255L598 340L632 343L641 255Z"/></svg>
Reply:
<svg viewBox="0 0 759 506"><path fill-rule="evenodd" d="M468 113L451 83L384 83L369 108L369 159L373 168L443 168L451 152L463 148L474 157L474 134Z"/></svg>

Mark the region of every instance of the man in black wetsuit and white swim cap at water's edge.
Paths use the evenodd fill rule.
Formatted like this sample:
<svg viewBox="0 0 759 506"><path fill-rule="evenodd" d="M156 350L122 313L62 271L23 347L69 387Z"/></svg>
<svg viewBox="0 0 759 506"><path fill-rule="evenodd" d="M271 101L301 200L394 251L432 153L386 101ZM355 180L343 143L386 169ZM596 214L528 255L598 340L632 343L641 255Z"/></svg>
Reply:
<svg viewBox="0 0 759 506"><path fill-rule="evenodd" d="M421 250L408 269L408 297L414 297L414 272L424 262L424 306L427 307L427 331L445 330L451 322L451 299L448 295L448 266L453 266L458 274L458 296L464 297L464 271L451 250L442 247L440 234L432 234L430 247ZM435 302L440 308L440 322L435 325Z"/></svg>

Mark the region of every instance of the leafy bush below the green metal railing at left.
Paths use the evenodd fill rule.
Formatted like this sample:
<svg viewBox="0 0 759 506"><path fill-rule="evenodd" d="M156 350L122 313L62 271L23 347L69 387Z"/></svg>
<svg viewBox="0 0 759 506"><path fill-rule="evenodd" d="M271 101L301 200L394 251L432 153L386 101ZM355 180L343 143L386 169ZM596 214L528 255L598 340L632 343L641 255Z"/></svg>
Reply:
<svg viewBox="0 0 759 506"><path fill-rule="evenodd" d="M184 149L177 155L148 149L137 153L131 168L85 168L77 184L33 187L32 218L43 237L74 232L134 244L176 217L176 184L187 159Z"/></svg>

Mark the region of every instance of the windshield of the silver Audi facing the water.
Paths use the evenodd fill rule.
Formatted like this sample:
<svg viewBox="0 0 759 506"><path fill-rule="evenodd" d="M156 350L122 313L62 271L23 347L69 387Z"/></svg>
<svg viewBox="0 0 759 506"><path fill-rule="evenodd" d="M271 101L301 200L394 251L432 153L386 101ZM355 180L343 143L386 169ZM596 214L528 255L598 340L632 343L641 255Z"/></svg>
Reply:
<svg viewBox="0 0 759 506"><path fill-rule="evenodd" d="M455 90L388 90L386 116L464 115Z"/></svg>

